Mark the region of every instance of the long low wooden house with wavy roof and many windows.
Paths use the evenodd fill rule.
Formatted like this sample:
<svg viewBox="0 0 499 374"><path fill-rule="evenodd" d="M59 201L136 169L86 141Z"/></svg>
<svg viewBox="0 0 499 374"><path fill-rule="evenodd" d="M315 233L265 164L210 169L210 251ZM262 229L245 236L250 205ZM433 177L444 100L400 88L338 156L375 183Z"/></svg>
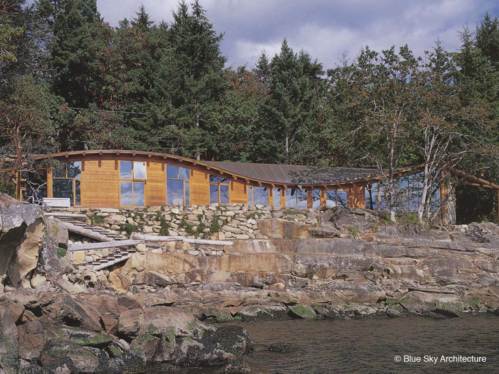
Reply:
<svg viewBox="0 0 499 374"><path fill-rule="evenodd" d="M388 208L384 178L377 169L209 162L124 150L63 152L33 159L59 161L47 170L46 197L68 197L72 206L250 203ZM397 170L397 176L397 209L415 211L421 166ZM499 190L493 183L468 177L471 184ZM446 188L438 186L434 192L435 209L440 209ZM448 213L447 206L443 210Z"/></svg>

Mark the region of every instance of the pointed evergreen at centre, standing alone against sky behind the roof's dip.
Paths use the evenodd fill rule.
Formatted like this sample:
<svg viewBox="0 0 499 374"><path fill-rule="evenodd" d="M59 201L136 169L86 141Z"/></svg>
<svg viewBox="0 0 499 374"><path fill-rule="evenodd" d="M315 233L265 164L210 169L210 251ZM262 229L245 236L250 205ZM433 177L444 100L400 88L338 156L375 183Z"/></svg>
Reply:
<svg viewBox="0 0 499 374"><path fill-rule="evenodd" d="M265 56L256 71L265 78ZM322 65L284 39L268 72L268 99L261 105L256 139L260 162L316 164L321 158L320 103L324 95ZM266 79L264 79L265 81Z"/></svg>

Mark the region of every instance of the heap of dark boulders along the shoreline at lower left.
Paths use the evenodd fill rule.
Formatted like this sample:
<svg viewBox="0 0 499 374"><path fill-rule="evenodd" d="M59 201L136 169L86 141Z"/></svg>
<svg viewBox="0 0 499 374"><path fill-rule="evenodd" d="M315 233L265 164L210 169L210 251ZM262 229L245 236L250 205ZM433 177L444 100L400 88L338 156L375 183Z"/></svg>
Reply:
<svg viewBox="0 0 499 374"><path fill-rule="evenodd" d="M53 290L6 292L0 326L0 371L7 374L223 366L252 349L242 327L217 328L177 307L127 309L103 292L77 297Z"/></svg>

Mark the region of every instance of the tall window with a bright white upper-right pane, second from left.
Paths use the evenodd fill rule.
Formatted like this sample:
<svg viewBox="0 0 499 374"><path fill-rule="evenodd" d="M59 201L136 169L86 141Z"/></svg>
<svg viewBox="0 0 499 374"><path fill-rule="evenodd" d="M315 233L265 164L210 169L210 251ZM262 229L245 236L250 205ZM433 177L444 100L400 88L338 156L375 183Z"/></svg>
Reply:
<svg viewBox="0 0 499 374"><path fill-rule="evenodd" d="M144 206L146 204L146 163L120 161L121 206Z"/></svg>

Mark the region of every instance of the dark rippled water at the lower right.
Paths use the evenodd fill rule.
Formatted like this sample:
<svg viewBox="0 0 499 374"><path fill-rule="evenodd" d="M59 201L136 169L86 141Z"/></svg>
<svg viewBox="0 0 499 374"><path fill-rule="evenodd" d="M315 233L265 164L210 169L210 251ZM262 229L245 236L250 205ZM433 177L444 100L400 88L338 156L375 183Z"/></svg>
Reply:
<svg viewBox="0 0 499 374"><path fill-rule="evenodd" d="M499 373L499 317L428 317L243 324L257 349L247 357L254 374ZM275 342L299 350L262 350ZM396 363L395 356L437 357L437 363ZM446 363L441 356L480 356L485 363ZM179 373L179 372L177 372ZM215 374L188 370L182 374ZM159 373L158 373L159 374ZM166 374L166 373L161 373Z"/></svg>

